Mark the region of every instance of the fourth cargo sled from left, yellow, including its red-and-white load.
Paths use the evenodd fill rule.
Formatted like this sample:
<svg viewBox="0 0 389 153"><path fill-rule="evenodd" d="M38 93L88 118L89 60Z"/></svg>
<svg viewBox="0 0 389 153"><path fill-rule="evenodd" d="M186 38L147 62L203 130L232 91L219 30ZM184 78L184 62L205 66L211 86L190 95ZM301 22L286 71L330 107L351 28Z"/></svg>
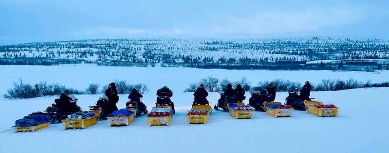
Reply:
<svg viewBox="0 0 389 153"><path fill-rule="evenodd" d="M157 106L151 109L151 112L147 114L147 120L149 126L153 125L169 125L172 119L172 107L170 106Z"/></svg>

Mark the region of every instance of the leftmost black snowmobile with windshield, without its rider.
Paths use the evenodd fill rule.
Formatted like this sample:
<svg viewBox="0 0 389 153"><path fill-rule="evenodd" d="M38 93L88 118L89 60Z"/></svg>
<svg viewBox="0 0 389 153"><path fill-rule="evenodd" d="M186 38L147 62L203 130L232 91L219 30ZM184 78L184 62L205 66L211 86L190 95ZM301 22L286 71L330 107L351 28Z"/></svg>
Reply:
<svg viewBox="0 0 389 153"><path fill-rule="evenodd" d="M78 98L73 94L69 94L68 97L72 99L72 101L70 101L70 111L57 105L59 99L55 99L54 103L44 111L53 117L51 123L61 123L62 120L66 119L67 115L81 111L81 107L77 105Z"/></svg>

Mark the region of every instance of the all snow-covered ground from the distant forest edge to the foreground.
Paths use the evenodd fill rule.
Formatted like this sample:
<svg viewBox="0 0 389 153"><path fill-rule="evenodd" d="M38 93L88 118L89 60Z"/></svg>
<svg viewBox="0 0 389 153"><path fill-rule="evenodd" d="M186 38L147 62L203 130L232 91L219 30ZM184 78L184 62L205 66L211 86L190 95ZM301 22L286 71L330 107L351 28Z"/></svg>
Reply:
<svg viewBox="0 0 389 153"><path fill-rule="evenodd" d="M85 88L89 83L108 83L126 79L146 83L150 92L143 101L148 109L154 104L155 90L167 84L174 92L177 113L169 126L147 125L145 116L128 127L110 127L99 121L87 129L64 130L52 124L37 132L14 133L14 121L28 113L42 111L56 96L25 100L0 99L0 153L386 153L389 145L387 105L389 88L312 92L311 97L340 107L338 117L315 117L294 111L291 118L273 118L254 112L253 119L235 120L226 112L214 111L206 125L188 125L185 114L193 100L192 93L182 93L189 83L213 75L231 80L246 76L251 82L283 78L303 82L324 78L386 81L387 71L379 74L331 71L248 71L205 70L191 68L97 67L93 65L0 66L0 93L22 77L34 83L47 80L66 86ZM139 76L135 74L140 74ZM304 77L301 77L304 76ZM249 94L246 95L249 97ZM287 93L277 93L284 101ZM100 95L77 95L83 109L93 105ZM127 95L117 104L123 108ZM218 93L209 100L215 104Z"/></svg>

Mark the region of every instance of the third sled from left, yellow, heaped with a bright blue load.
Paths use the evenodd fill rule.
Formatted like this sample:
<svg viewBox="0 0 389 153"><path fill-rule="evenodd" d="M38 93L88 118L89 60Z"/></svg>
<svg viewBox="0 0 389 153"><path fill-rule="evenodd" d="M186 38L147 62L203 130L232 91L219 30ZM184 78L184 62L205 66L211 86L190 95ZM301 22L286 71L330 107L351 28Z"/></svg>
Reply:
<svg viewBox="0 0 389 153"><path fill-rule="evenodd" d="M128 126L134 122L136 113L129 109L120 109L107 116L111 126Z"/></svg>

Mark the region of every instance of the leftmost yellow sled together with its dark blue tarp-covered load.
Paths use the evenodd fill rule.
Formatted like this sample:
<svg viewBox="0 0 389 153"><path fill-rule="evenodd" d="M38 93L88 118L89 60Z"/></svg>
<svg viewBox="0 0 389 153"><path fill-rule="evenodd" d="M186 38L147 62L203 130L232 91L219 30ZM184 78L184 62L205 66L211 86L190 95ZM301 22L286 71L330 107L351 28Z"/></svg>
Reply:
<svg viewBox="0 0 389 153"><path fill-rule="evenodd" d="M39 129L48 127L53 119L52 117L53 116L46 113L35 112L22 119L16 120L13 129L16 132L38 131Z"/></svg>

